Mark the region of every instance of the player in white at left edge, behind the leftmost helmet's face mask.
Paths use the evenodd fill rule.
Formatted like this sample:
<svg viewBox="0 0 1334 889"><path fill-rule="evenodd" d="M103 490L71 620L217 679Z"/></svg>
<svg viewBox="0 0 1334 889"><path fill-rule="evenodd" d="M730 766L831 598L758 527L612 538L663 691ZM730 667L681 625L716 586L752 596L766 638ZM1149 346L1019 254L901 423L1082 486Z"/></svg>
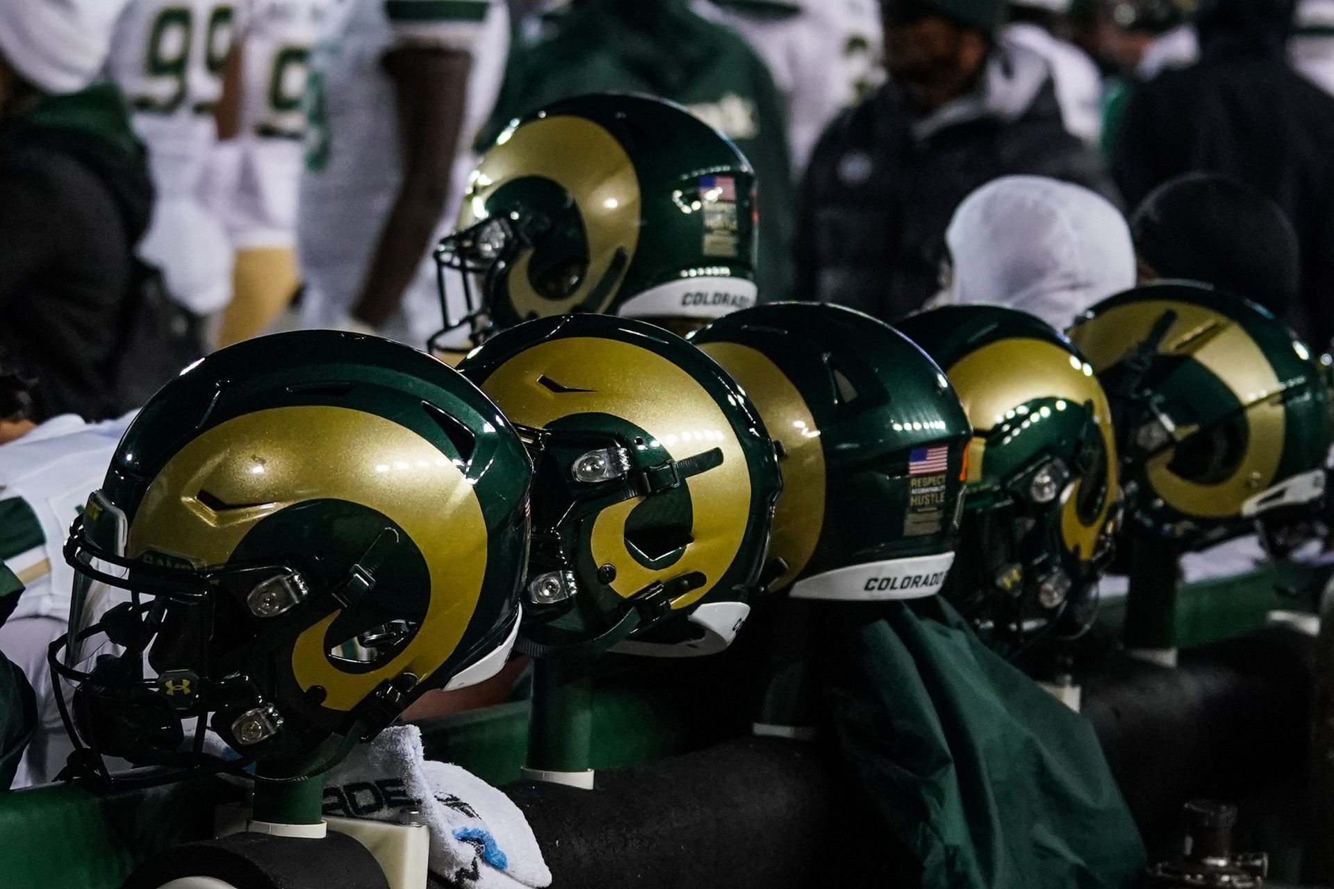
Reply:
<svg viewBox="0 0 1334 889"><path fill-rule="evenodd" d="M37 730L15 788L55 781L73 749L47 666L47 648L69 626L73 570L61 548L88 494L101 486L132 416L85 424L67 413L0 444L0 561L25 586L0 626L0 650L24 672L37 700Z"/></svg>

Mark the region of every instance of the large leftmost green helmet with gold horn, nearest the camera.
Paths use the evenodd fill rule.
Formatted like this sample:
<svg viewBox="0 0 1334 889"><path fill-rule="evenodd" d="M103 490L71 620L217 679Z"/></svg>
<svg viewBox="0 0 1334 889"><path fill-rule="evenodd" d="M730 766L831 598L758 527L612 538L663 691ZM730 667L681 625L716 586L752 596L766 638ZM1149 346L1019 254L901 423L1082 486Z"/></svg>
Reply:
<svg viewBox="0 0 1334 889"><path fill-rule="evenodd" d="M201 360L129 425L65 548L51 664L84 760L312 774L495 674L531 477L496 407L415 349L309 331Z"/></svg>

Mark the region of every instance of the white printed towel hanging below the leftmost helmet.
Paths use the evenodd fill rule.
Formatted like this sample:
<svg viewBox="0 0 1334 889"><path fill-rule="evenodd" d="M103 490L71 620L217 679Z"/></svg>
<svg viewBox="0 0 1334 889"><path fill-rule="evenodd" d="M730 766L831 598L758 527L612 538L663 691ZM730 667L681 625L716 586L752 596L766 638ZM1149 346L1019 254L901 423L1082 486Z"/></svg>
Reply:
<svg viewBox="0 0 1334 889"><path fill-rule="evenodd" d="M428 761L415 725L360 744L324 781L324 814L402 821L431 829L431 870L470 889L551 885L528 820L510 797L448 762Z"/></svg>

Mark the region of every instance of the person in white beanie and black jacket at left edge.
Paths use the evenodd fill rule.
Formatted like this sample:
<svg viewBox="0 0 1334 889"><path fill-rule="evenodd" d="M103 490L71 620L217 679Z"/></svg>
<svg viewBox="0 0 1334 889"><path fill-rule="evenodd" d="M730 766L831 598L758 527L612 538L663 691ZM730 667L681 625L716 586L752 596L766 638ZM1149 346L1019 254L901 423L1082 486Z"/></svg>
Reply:
<svg viewBox="0 0 1334 889"><path fill-rule="evenodd" d="M123 0L0 0L0 349L33 420L119 413L111 367L152 183L97 80Z"/></svg>

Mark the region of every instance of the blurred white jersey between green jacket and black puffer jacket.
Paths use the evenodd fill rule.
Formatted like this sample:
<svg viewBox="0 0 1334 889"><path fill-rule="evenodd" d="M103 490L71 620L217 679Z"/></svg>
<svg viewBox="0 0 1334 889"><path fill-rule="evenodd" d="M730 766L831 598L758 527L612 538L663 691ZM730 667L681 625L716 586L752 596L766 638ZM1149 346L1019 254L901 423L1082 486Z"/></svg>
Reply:
<svg viewBox="0 0 1334 889"><path fill-rule="evenodd" d="M735 28L768 65L787 105L792 173L838 112L879 85L883 43L875 0L696 0L698 13Z"/></svg>

